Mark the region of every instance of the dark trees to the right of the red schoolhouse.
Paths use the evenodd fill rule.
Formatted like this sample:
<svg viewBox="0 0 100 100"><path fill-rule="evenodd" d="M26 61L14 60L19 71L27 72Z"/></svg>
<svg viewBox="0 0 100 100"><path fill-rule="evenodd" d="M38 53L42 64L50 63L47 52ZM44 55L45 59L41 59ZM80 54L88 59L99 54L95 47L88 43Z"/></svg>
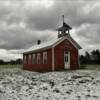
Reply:
<svg viewBox="0 0 100 100"><path fill-rule="evenodd" d="M92 50L90 53L85 52L85 55L80 55L80 64L100 64L100 51Z"/></svg>

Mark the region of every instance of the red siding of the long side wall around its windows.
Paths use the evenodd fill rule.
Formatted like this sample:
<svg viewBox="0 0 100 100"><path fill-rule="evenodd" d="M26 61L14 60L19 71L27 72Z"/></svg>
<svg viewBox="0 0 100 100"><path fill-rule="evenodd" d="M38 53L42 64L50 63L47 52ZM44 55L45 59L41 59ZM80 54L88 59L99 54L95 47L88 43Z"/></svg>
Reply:
<svg viewBox="0 0 100 100"><path fill-rule="evenodd" d="M43 64L43 52L47 52L47 64ZM37 60L37 53L40 53L40 64L24 64L23 68L26 70L31 70L31 71L39 71L39 72L45 72L45 71L52 71L52 51L51 49L45 50L45 51L40 51L40 52L35 52L36 54L36 60ZM33 53L31 53L32 55ZM25 54L24 54L25 55ZM29 55L29 54L27 54ZM32 62L32 59L31 59Z"/></svg>

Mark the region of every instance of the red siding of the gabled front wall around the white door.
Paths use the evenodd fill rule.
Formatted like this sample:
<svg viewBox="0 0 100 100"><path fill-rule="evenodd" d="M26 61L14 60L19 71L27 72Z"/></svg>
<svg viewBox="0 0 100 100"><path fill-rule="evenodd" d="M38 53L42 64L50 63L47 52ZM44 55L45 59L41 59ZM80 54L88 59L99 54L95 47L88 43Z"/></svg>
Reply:
<svg viewBox="0 0 100 100"><path fill-rule="evenodd" d="M54 49L55 70L64 69L64 51L70 52L70 68L78 68L78 50L68 40L64 40Z"/></svg>

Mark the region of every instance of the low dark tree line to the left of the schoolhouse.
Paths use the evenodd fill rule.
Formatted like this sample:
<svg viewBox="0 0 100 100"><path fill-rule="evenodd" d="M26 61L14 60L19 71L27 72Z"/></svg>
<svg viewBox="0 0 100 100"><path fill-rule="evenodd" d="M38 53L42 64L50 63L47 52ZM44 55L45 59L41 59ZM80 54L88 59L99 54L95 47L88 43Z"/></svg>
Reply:
<svg viewBox="0 0 100 100"><path fill-rule="evenodd" d="M16 59L16 60L10 60L10 61L4 61L0 60L0 65L16 65L16 64L22 64L22 59Z"/></svg>

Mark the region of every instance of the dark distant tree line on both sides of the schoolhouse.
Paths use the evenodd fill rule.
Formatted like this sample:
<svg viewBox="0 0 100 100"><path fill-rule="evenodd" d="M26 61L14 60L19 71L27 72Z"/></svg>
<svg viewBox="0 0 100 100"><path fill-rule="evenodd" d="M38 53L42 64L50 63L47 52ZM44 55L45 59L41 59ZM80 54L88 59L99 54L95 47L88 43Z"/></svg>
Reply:
<svg viewBox="0 0 100 100"><path fill-rule="evenodd" d="M22 59L16 59L16 60L10 60L10 61L4 61L0 60L0 65L16 65L16 64L22 64ZM84 55L80 55L80 64L100 64L100 51L92 50L90 53L88 51L85 52Z"/></svg>

